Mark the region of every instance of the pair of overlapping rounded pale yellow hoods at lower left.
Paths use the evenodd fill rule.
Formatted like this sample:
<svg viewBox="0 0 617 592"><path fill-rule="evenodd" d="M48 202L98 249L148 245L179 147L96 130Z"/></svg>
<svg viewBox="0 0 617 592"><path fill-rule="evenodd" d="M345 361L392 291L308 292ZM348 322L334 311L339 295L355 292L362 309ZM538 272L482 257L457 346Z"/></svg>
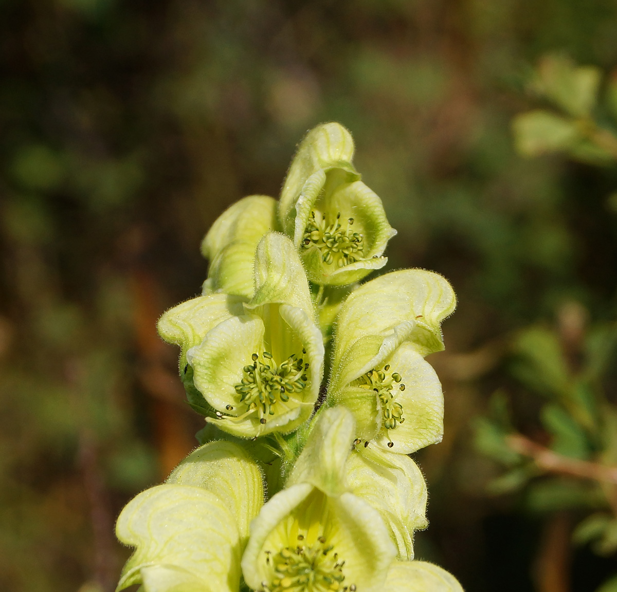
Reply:
<svg viewBox="0 0 617 592"><path fill-rule="evenodd" d="M117 590L238 592L247 525L262 504L259 469L239 445L202 446L122 510L116 535L136 550Z"/></svg>

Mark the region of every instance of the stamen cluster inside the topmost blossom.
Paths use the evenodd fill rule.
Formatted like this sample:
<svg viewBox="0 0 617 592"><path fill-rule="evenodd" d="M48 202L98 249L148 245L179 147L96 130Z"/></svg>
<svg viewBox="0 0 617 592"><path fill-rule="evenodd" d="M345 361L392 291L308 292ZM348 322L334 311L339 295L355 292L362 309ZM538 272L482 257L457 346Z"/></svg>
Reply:
<svg viewBox="0 0 617 592"><path fill-rule="evenodd" d="M364 251L364 239L362 234L354 232L354 218L347 219L346 228L339 221L341 212L337 213L336 220L328 223L328 216L311 212L309 224L304 230L302 245L309 249L313 245L321 252L321 260L324 263L334 263L344 267L355 261L362 260Z"/></svg>

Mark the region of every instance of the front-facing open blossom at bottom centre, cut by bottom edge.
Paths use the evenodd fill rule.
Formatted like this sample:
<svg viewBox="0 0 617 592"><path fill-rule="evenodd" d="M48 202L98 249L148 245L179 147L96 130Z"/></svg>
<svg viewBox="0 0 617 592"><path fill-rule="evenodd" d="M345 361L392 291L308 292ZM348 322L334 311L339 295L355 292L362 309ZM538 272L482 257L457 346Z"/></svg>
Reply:
<svg viewBox="0 0 617 592"><path fill-rule="evenodd" d="M252 589L382 589L396 550L379 512L344 483L353 431L353 417L344 408L320 415L289 487L251 524L242 573Z"/></svg>

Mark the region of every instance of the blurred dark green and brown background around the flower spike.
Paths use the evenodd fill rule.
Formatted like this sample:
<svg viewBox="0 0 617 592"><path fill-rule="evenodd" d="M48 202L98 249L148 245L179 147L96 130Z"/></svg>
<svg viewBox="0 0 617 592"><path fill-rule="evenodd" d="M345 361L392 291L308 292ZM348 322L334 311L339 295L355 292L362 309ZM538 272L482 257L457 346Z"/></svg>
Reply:
<svg viewBox="0 0 617 592"><path fill-rule="evenodd" d="M459 298L430 360L445 437L418 455L416 554L470 592L593 592L617 572L570 545L584 504L534 505L522 480L496 495L499 463L473 443L496 391L550 442L511 363L521 331L617 318L617 169L521 157L511 131L545 105L530 84L547 52L610 90L615 0L0 0L0 31L1 590L114 589L115 517L202 425L155 321L199 291L212 221L276 197L329 120L399 231L386 270L434 269ZM594 384L614 403L605 349Z"/></svg>

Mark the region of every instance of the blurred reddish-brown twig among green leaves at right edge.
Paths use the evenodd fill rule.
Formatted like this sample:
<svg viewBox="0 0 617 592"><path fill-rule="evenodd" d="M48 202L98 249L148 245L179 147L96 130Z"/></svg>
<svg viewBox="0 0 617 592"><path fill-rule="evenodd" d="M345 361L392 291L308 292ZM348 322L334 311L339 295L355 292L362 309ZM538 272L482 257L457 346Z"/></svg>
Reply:
<svg viewBox="0 0 617 592"><path fill-rule="evenodd" d="M617 467L562 456L520 434L507 436L506 442L515 452L534 459L544 471L617 485Z"/></svg>

